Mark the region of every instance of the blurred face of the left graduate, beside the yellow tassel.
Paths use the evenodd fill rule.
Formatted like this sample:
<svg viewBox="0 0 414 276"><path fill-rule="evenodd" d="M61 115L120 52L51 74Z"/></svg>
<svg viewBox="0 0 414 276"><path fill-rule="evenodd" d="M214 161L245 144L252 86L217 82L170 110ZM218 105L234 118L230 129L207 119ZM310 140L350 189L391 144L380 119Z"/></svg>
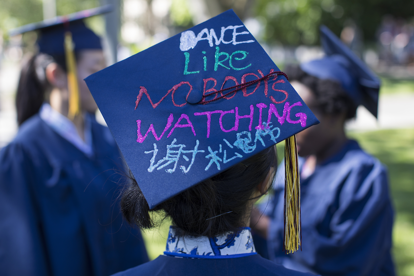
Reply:
<svg viewBox="0 0 414 276"><path fill-rule="evenodd" d="M95 112L98 108L84 79L106 67L102 50L91 49L79 52L77 61L79 96L83 111Z"/></svg>

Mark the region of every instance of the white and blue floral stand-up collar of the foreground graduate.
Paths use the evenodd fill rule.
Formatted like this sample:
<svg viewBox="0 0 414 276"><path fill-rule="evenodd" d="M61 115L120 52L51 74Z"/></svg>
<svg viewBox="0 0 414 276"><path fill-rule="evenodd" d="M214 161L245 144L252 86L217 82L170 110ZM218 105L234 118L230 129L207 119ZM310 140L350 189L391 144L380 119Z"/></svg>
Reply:
<svg viewBox="0 0 414 276"><path fill-rule="evenodd" d="M164 254L184 258L237 258L254 255L252 233L245 227L236 233L228 233L219 237L179 236L176 229L170 226L167 246Z"/></svg>

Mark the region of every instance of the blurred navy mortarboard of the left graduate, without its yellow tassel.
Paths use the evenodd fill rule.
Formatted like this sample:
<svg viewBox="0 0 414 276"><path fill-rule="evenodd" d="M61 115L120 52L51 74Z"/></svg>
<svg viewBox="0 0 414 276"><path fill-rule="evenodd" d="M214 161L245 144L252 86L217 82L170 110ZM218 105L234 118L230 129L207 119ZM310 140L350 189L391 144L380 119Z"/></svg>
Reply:
<svg viewBox="0 0 414 276"><path fill-rule="evenodd" d="M76 12L66 16L58 16L38 23L31 23L13 29L10 36L29 31L38 31L37 45L39 52L49 55L64 55L65 32L70 31L74 43L74 51L82 49L102 49L100 38L89 29L84 19L112 11L112 5L105 5L89 10Z"/></svg>

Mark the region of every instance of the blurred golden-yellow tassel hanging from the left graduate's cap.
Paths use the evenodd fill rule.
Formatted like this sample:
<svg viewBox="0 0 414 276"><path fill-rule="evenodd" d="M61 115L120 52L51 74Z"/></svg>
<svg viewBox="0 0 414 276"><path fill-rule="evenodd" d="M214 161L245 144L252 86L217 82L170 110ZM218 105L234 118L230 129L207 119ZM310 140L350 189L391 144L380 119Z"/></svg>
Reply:
<svg viewBox="0 0 414 276"><path fill-rule="evenodd" d="M68 70L68 90L69 90L69 113L68 118L73 118L80 112L80 101L79 101L79 87L76 72L76 59L73 53L73 41L72 34L68 31L65 33L65 56L66 56L66 67Z"/></svg>

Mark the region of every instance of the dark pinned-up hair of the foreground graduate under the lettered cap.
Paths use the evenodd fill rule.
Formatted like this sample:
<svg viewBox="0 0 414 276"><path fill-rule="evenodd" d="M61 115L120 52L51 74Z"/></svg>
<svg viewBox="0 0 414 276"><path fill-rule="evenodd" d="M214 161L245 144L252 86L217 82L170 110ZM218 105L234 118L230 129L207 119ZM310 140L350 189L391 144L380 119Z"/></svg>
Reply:
<svg viewBox="0 0 414 276"><path fill-rule="evenodd" d="M214 237L234 232L246 226L243 222L255 188L266 179L271 168L276 173L276 167L276 146L272 146L164 201L153 210L149 209L141 189L131 177L121 195L121 210L130 224L142 229L155 227L150 216L155 211L163 218L171 217L183 235Z"/></svg>

